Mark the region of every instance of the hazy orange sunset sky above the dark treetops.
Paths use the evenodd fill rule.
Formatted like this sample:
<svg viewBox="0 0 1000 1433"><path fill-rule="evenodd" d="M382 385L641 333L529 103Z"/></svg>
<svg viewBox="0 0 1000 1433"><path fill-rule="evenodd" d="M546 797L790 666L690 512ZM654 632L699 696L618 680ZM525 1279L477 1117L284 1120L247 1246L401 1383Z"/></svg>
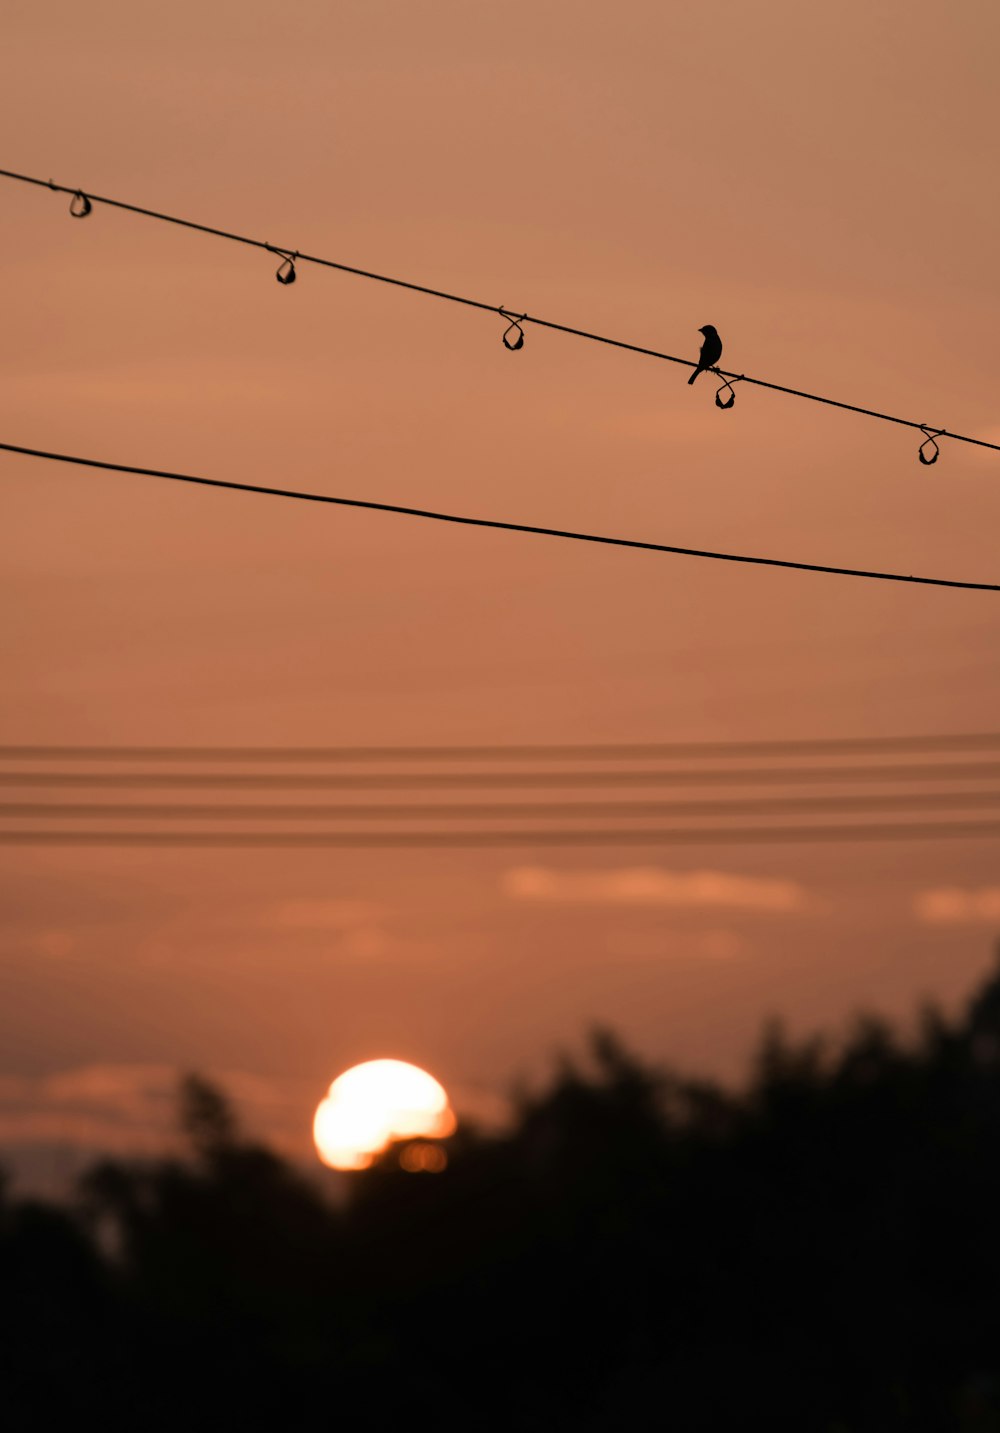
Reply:
<svg viewBox="0 0 1000 1433"><path fill-rule="evenodd" d="M33 0L4 32L6 168L669 353L715 322L735 371L1000 440L993 6ZM749 388L722 414L670 365L539 330L511 355L489 314L312 268L282 289L258 251L66 208L0 185L7 441L997 579L997 454L944 444L924 469L904 428ZM0 741L1000 722L989 593L0 467ZM537 900L526 866L605 891L622 867L706 868L801 898ZM83 1066L318 1099L374 1055L494 1091L595 1017L734 1072L766 1012L961 996L996 920L928 921L921 891L996 884L986 843L4 850L0 1072L26 1108Z"/></svg>

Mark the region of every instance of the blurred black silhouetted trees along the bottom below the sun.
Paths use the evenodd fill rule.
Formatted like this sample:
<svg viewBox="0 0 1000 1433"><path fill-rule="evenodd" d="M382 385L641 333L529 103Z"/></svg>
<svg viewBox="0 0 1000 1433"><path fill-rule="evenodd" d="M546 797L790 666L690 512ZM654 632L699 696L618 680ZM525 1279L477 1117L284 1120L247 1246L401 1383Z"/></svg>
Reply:
<svg viewBox="0 0 1000 1433"><path fill-rule="evenodd" d="M11 1427L1000 1430L1000 977L742 1095L609 1033L345 1208L181 1096L189 1158L0 1195Z"/></svg>

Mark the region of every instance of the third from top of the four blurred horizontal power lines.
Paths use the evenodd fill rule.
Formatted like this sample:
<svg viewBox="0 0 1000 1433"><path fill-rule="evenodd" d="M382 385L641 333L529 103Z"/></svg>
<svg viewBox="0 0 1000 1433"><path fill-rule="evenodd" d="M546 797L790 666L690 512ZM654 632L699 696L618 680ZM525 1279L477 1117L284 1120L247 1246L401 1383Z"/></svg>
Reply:
<svg viewBox="0 0 1000 1433"><path fill-rule="evenodd" d="M0 801L0 820L83 821L483 821L546 820L567 817L615 820L635 817L802 815L821 811L885 813L977 810L1000 805L1000 791L887 792L864 797L768 797L734 801L506 801L358 805L234 805L232 802L106 802L106 801Z"/></svg>

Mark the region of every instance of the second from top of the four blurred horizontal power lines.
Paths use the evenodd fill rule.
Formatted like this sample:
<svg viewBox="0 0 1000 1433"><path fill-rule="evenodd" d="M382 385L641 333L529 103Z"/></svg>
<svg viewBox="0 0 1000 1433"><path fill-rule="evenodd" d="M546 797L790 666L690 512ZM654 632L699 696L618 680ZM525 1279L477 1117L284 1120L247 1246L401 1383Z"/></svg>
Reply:
<svg viewBox="0 0 1000 1433"><path fill-rule="evenodd" d="M0 787L116 790L215 788L242 791L397 791L441 788L573 788L652 785L801 785L830 782L996 781L1000 762L885 767L734 767L703 771L398 771L398 772L205 772L205 771L0 771Z"/></svg>

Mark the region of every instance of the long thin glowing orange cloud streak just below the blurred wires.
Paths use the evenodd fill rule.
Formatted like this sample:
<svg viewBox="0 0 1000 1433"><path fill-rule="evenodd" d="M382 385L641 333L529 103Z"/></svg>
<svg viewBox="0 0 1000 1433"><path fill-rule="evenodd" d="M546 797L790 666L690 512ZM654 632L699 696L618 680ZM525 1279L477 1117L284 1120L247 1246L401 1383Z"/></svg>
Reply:
<svg viewBox="0 0 1000 1433"><path fill-rule="evenodd" d="M516 866L504 871L501 888L511 900L566 906L686 906L785 913L807 904L805 888L795 881L728 871L668 871L656 866L603 871Z"/></svg>

